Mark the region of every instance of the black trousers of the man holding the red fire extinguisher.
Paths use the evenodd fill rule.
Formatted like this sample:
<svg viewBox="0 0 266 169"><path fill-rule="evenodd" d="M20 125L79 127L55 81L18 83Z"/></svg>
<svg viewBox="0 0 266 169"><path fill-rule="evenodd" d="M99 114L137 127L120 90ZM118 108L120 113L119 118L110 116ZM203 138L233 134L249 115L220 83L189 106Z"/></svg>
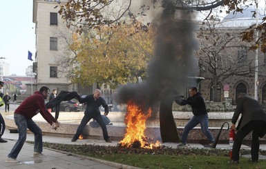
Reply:
<svg viewBox="0 0 266 169"><path fill-rule="evenodd" d="M251 159L258 160L258 150L260 148L260 143L258 137L263 132L266 126L266 122L262 120L250 121L243 128L236 132L236 139L234 141L232 159L234 161L239 160L239 151L242 145L243 139L252 131L252 141L251 141Z"/></svg>

